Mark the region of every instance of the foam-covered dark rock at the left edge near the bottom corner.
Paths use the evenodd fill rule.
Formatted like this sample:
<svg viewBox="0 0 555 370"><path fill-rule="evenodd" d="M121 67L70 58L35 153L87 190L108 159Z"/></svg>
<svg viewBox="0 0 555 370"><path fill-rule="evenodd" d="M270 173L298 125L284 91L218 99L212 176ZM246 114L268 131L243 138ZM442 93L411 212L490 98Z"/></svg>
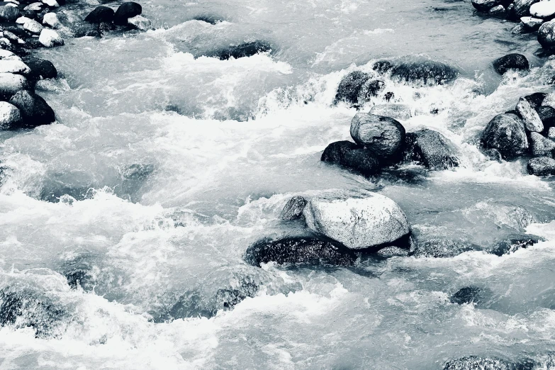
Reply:
<svg viewBox="0 0 555 370"><path fill-rule="evenodd" d="M66 315L50 298L30 288L0 291L1 326L31 327L35 337L45 338L56 335L56 327Z"/></svg>

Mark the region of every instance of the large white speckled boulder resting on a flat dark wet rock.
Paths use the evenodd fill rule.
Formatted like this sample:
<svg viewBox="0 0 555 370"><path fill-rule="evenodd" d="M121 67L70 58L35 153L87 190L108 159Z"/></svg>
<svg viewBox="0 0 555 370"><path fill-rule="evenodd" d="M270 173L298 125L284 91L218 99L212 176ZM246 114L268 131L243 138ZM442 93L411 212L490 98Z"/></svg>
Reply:
<svg viewBox="0 0 555 370"><path fill-rule="evenodd" d="M308 228L353 250L394 242L410 234L397 203L381 194L331 191L315 196L303 211Z"/></svg>

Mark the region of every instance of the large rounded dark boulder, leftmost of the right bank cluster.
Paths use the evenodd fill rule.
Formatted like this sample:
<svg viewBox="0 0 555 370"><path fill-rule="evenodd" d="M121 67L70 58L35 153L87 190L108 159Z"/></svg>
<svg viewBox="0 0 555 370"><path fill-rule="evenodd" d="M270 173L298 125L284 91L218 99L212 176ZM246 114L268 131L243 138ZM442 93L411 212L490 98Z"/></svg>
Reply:
<svg viewBox="0 0 555 370"><path fill-rule="evenodd" d="M486 149L498 150L503 159L514 159L528 150L525 125L514 114L499 114L483 130L481 143Z"/></svg>

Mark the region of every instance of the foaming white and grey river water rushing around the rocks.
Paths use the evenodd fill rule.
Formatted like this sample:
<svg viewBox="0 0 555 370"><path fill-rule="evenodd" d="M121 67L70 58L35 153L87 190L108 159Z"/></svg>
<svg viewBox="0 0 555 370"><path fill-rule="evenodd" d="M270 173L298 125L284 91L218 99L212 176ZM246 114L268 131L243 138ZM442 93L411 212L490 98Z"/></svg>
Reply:
<svg viewBox="0 0 555 370"><path fill-rule="evenodd" d="M555 182L476 147L495 114L552 90L555 63L537 57L534 35L511 35L513 23L464 0L142 6L156 30L40 51L62 74L40 90L57 123L0 133L0 286L47 302L26 308L35 327L1 328L0 369L417 370L555 348ZM272 52L201 56L254 40ZM508 52L527 55L532 71L498 77L491 61ZM452 84L388 81L387 91L419 113L408 130L456 144L461 167L397 181L320 162L356 113L332 105L341 77L381 57L459 68ZM252 242L302 228L278 220L291 196L357 188L399 203L419 240L479 250L348 269L243 261ZM529 235L544 241L483 252ZM464 286L486 301L450 303ZM234 291L252 298L225 309L218 297Z"/></svg>

